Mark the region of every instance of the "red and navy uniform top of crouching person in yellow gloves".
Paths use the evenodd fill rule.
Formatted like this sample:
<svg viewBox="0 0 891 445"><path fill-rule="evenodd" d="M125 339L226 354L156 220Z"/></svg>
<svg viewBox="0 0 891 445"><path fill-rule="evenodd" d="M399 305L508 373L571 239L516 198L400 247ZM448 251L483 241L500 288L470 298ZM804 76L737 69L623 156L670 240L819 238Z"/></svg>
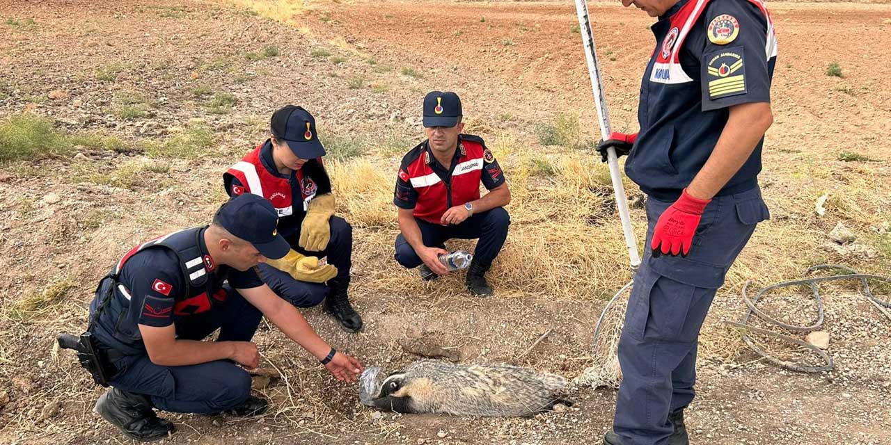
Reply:
<svg viewBox="0 0 891 445"><path fill-rule="evenodd" d="M231 197L253 193L268 199L281 218L278 227L286 238L299 232L309 201L316 194L331 193L331 180L324 171L322 158L308 160L290 176L279 174L268 140L230 167L223 180Z"/></svg>

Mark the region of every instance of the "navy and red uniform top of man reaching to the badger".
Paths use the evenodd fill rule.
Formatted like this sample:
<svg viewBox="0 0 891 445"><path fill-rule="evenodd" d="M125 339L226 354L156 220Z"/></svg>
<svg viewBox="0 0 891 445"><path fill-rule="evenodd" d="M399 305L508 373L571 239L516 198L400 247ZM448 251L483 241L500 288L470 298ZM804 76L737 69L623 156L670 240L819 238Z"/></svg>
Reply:
<svg viewBox="0 0 891 445"><path fill-rule="evenodd" d="M92 314L99 312L96 320L98 332L94 334L102 344L125 353L144 351L142 336L137 326L139 320L152 318L181 320L184 317L208 312L215 303L225 301L227 293L222 284L228 278L228 271L231 269L227 266L218 269L210 255L203 253L200 247L200 235L203 229L196 227L176 231L140 244L127 252L109 275L102 279L97 288L96 298L90 305ZM167 302L155 303L161 300L157 298L151 300L151 296L135 295L134 298L127 283L119 281L120 273L128 260L147 249L158 248L168 249L175 254L178 269L184 278L182 282L185 283L185 289L176 289L172 295L174 300L172 306ZM180 281L172 285L162 279L155 279L151 284L151 291L159 295L170 295L173 287L178 287L179 284ZM104 298L110 300L102 310L99 310L102 305L100 300Z"/></svg>

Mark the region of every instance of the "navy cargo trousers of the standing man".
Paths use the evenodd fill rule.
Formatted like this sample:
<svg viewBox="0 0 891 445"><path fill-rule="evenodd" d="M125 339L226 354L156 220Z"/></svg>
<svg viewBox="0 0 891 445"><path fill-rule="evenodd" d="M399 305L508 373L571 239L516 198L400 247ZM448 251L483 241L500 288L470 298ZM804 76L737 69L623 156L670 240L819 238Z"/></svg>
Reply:
<svg viewBox="0 0 891 445"><path fill-rule="evenodd" d="M668 414L693 400L708 307L756 224L770 217L758 188L716 197L702 214L690 255L653 257L653 229L672 204L647 199L647 244L618 344L623 381L613 429L624 445L667 443Z"/></svg>

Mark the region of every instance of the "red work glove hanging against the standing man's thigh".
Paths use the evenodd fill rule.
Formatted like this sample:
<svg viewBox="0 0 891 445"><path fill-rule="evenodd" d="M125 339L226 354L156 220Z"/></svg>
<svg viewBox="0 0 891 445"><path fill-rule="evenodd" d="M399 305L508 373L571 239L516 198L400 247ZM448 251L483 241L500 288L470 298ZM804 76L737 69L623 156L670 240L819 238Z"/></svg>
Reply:
<svg viewBox="0 0 891 445"><path fill-rule="evenodd" d="M693 198L687 193L687 189L684 189L681 198L677 198L656 222L653 240L650 243L653 256L660 254L687 256L693 245L693 235L699 226L699 218L711 201L711 199Z"/></svg>

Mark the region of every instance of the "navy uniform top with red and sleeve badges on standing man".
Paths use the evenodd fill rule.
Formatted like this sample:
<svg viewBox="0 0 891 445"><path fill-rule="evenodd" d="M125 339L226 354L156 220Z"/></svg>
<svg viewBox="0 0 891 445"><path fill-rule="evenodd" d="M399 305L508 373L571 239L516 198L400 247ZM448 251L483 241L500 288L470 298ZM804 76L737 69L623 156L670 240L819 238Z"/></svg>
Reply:
<svg viewBox="0 0 891 445"><path fill-rule="evenodd" d="M681 0L650 29L656 47L625 173L648 195L674 201L714 150L728 108L770 101L777 40L762 0ZM719 196L757 186L762 144Z"/></svg>

